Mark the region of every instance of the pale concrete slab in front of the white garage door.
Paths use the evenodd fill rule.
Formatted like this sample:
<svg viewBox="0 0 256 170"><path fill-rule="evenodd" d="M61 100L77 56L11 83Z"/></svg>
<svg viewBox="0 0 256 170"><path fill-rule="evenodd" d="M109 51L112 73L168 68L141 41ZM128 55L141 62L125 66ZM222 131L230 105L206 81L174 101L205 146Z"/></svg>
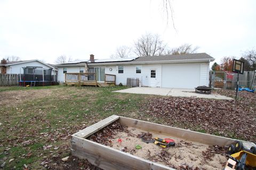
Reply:
<svg viewBox="0 0 256 170"><path fill-rule="evenodd" d="M195 97L195 98L209 98L220 100L233 100L233 98L221 96L217 94L198 94L195 89L176 89L176 88L154 88L154 87L133 87L114 92L125 92L130 94L146 94L146 95L161 95L173 97Z"/></svg>

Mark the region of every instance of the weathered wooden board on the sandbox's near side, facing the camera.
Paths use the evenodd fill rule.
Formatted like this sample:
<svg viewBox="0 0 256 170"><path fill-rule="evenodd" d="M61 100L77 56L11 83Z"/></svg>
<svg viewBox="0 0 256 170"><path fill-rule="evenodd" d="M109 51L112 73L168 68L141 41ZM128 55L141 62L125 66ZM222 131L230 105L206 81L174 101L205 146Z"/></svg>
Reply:
<svg viewBox="0 0 256 170"><path fill-rule="evenodd" d="M81 159L87 159L102 169L150 169L174 170L161 164L151 162L126 152L119 151L97 142L93 142L76 135L71 137L71 154Z"/></svg>

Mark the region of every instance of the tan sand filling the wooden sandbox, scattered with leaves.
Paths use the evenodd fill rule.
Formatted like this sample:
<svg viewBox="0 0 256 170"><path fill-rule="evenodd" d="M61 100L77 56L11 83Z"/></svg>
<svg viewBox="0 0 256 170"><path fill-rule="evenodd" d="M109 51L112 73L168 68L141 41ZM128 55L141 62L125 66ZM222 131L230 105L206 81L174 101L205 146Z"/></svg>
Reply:
<svg viewBox="0 0 256 170"><path fill-rule="evenodd" d="M142 132L147 133L147 131L131 127L127 128L127 130L135 135L141 134ZM204 169L221 169L223 167L222 164L227 162L227 159L223 154L214 154L211 159L206 160L202 154L202 151L206 151L207 148L209 148L209 145L185 141L180 138L174 138L163 134L152 133L153 137L162 139L171 138L175 141L175 146L164 149L167 151L168 155L165 157L166 159L163 160L158 157L158 154L163 151L163 148L155 145L154 143L145 143L135 135L134 137L131 137L129 133L117 132L115 139L112 140L114 142L112 143L113 146L111 147L118 150L125 150L127 153L132 153L134 156L148 159L173 168L188 165L193 169L196 167ZM118 139L122 139L122 142L119 143ZM135 149L135 145L140 145L142 149Z"/></svg>

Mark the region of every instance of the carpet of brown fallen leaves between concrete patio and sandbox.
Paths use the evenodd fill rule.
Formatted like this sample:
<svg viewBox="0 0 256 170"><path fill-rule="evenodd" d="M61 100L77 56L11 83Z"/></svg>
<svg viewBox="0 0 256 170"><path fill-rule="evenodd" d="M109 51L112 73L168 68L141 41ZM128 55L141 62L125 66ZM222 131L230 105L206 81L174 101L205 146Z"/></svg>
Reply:
<svg viewBox="0 0 256 170"><path fill-rule="evenodd" d="M231 90L214 91L234 97ZM239 100L155 97L142 104L141 116L163 118L185 129L256 142L256 94L239 92Z"/></svg>

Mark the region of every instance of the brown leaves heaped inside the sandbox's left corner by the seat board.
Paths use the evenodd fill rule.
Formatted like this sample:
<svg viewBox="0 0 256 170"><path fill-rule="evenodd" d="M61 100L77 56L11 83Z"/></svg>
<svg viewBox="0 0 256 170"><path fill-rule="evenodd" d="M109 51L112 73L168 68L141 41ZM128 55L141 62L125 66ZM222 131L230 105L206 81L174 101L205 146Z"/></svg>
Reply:
<svg viewBox="0 0 256 170"><path fill-rule="evenodd" d="M87 139L100 143L106 146L112 146L111 139L115 138L115 134L117 132L127 132L127 126L122 125L118 122L113 122L110 125L106 126L105 128L101 129L100 131L90 135Z"/></svg>

